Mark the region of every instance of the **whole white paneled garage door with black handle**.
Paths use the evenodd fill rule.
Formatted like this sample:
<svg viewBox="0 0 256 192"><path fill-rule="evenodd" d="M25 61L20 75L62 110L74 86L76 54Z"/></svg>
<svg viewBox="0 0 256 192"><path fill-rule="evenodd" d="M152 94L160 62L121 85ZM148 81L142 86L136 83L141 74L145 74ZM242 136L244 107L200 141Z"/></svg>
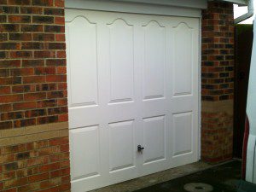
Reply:
<svg viewBox="0 0 256 192"><path fill-rule="evenodd" d="M73 192L198 160L199 19L67 9L66 20Z"/></svg>

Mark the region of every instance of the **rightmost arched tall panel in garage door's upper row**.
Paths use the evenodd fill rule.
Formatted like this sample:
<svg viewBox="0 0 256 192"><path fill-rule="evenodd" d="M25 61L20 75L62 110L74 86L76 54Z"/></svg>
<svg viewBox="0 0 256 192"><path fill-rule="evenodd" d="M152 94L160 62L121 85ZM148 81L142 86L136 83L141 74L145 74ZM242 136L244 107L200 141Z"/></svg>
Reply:
<svg viewBox="0 0 256 192"><path fill-rule="evenodd" d="M193 85L193 28L180 22L173 30L173 96L187 96Z"/></svg>

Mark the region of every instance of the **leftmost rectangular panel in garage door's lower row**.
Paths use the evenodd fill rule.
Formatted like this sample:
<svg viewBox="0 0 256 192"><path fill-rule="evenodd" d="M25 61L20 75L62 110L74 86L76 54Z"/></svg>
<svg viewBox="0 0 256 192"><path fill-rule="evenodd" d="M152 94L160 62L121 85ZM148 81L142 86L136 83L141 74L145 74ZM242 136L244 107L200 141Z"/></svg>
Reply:
<svg viewBox="0 0 256 192"><path fill-rule="evenodd" d="M100 176L99 126L70 131L70 141L72 180Z"/></svg>

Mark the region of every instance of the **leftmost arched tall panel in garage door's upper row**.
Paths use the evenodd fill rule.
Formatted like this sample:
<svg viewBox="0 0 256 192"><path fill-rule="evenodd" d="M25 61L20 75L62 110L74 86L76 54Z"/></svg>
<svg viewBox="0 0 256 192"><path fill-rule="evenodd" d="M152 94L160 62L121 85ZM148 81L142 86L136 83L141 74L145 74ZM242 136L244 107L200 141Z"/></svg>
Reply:
<svg viewBox="0 0 256 192"><path fill-rule="evenodd" d="M67 23L69 106L98 103L96 24L83 16ZM78 46L79 45L79 46ZM88 46L89 45L89 46ZM84 79L86 77L86 80Z"/></svg>

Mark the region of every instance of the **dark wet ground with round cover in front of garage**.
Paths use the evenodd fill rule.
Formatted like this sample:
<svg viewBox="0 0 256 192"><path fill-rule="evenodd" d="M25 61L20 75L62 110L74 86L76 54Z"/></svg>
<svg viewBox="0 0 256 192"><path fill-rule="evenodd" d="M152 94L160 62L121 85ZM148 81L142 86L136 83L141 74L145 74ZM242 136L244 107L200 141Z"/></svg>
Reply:
<svg viewBox="0 0 256 192"><path fill-rule="evenodd" d="M240 180L241 162L232 161L205 171L139 189L136 192L236 192ZM255 192L255 190L246 191Z"/></svg>

